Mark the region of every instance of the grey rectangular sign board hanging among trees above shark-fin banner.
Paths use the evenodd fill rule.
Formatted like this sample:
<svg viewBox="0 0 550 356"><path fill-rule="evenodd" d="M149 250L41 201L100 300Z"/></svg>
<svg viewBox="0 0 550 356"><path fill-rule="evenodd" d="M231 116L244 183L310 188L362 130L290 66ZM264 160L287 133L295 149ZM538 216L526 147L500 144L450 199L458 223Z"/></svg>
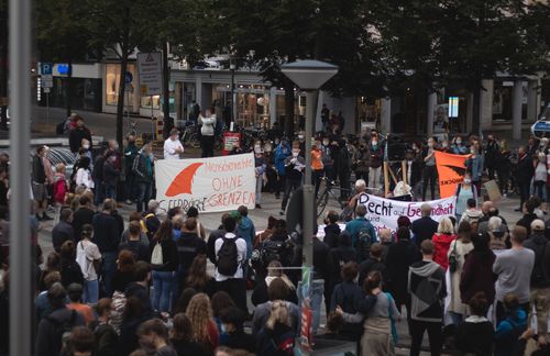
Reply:
<svg viewBox="0 0 550 356"><path fill-rule="evenodd" d="M139 53L138 74L140 92L146 96L160 96L163 92L163 54L161 52Z"/></svg>

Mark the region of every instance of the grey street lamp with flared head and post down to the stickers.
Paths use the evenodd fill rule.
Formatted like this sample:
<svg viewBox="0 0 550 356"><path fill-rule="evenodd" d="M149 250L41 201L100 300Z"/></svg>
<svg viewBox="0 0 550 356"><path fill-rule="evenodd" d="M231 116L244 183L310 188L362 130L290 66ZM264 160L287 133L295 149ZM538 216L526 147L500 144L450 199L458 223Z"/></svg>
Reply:
<svg viewBox="0 0 550 356"><path fill-rule="evenodd" d="M314 186L311 183L311 135L315 127L318 89L338 73L338 67L319 60L297 60L280 66L280 71L306 91L306 179L302 205L304 266L314 266ZM315 214L317 216L317 214Z"/></svg>

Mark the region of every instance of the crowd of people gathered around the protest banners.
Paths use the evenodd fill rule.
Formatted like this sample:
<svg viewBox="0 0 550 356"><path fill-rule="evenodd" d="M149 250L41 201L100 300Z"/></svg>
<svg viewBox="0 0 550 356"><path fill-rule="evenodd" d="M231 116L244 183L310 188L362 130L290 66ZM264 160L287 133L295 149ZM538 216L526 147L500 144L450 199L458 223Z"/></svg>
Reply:
<svg viewBox="0 0 550 356"><path fill-rule="evenodd" d="M205 127L212 125L211 116L197 119ZM413 143L405 176L416 199L426 201L428 186L436 198L435 151L469 154L468 170L457 187L455 214L435 221L425 203L422 218L399 216L392 232L376 231L358 203L360 194L381 191L388 143L376 130L352 138L339 134L338 123L331 129L310 153L316 194L321 178L338 181L351 213L330 210L323 225L315 226L314 342L340 340L356 343L362 355L393 355L406 309L410 355L419 355L425 332L432 355L550 353L548 141L529 138L517 162L493 135L485 144L474 135L468 145L460 136L451 144L435 137ZM250 147L256 208L262 191L273 192L282 198L279 216L270 216L267 229L256 232L249 210L240 207L208 232L195 207L160 209L151 144L138 147L129 135L122 153L110 141L92 154L80 116L70 120L68 132L77 159L70 176L63 164L52 167L46 146L36 148L32 163L35 355L294 353L304 300L297 268L304 236L277 218L302 183L302 134ZM202 156L211 156L209 142L205 145ZM248 151L238 146L232 154ZM183 152L172 130L164 158L178 159ZM0 155L0 355L9 354L8 162ZM522 216L515 225L483 197L485 177L497 179L504 194L517 188ZM119 212L124 199L135 204L127 221ZM48 205L55 208L53 252L43 256L37 230L52 220Z"/></svg>

